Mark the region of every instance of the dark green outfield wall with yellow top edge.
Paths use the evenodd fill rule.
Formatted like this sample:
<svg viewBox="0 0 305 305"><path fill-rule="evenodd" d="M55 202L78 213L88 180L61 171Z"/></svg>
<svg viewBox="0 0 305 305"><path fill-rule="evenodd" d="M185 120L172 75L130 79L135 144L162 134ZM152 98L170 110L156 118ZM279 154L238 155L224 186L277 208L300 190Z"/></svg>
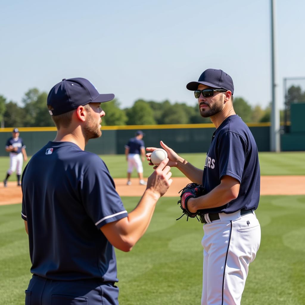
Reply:
<svg viewBox="0 0 305 305"><path fill-rule="evenodd" d="M269 151L269 123L248 124L257 142L259 151ZM102 137L89 140L86 150L96 154L124 154L124 145L134 137L135 131L145 133L146 147L160 147L160 140L178 153L207 152L215 127L213 124L177 124L177 125L128 125L102 127ZM27 154L32 156L48 141L56 136L55 127L20 127L20 137L26 145ZM8 156L5 143L12 136L12 128L0 129L0 156Z"/></svg>

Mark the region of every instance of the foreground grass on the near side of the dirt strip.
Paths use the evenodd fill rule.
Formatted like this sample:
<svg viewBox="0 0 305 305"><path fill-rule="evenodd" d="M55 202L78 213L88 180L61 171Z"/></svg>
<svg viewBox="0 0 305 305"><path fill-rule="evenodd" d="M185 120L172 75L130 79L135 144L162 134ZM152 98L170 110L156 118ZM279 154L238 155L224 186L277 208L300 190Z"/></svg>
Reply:
<svg viewBox="0 0 305 305"><path fill-rule="evenodd" d="M199 304L202 225L181 215L177 198L161 198L146 234L129 253L117 253L122 305ZM124 197L128 211L138 198ZM0 304L24 304L30 279L20 204L0 206ZM305 196L261 196L262 240L249 268L242 305L305 303Z"/></svg>

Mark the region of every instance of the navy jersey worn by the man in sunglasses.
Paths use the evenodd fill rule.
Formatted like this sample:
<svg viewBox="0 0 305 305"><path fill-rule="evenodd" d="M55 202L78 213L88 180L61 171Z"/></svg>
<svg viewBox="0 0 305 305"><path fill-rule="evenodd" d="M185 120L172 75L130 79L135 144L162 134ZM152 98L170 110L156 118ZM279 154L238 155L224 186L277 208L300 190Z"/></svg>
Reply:
<svg viewBox="0 0 305 305"><path fill-rule="evenodd" d="M234 213L241 209L257 209L260 198L257 145L249 127L236 114L226 118L213 133L203 170L206 192L219 185L224 175L240 182L238 197L224 206L203 212Z"/></svg>

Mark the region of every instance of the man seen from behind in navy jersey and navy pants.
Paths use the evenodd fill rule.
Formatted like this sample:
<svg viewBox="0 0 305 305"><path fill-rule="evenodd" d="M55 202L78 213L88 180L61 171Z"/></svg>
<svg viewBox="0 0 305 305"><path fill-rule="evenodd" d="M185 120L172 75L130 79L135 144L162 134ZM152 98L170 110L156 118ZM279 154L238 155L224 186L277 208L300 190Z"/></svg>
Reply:
<svg viewBox="0 0 305 305"><path fill-rule="evenodd" d="M101 136L100 104L113 98L84 78L63 79L48 94L57 135L34 154L22 175L33 274L26 304L118 304L114 247L132 249L172 183L167 159L127 213L106 164L84 150L89 139Z"/></svg>

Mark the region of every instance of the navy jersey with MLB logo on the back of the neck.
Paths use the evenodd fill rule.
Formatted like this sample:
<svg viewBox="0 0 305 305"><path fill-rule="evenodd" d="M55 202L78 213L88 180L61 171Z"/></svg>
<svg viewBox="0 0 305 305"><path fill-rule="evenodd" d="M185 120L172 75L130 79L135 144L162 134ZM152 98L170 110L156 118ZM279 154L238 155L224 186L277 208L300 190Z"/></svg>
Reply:
<svg viewBox="0 0 305 305"><path fill-rule="evenodd" d="M49 142L27 164L22 192L32 273L118 281L114 248L100 228L127 211L99 156L71 142Z"/></svg>

